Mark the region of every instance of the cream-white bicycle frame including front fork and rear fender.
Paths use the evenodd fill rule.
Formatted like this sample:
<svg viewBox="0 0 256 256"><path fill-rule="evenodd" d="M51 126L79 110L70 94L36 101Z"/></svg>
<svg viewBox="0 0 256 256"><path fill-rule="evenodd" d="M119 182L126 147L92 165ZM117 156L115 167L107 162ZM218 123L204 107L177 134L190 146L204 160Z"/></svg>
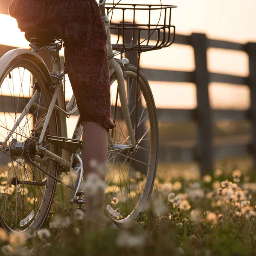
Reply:
<svg viewBox="0 0 256 256"><path fill-rule="evenodd" d="M110 33L110 22L108 19L108 16L105 13L105 0L101 0L102 2L99 3L99 7L102 13L102 20L105 23L106 27L106 32L108 35L108 40L107 40L107 51L108 51L108 65L109 65L109 74L110 76L116 72L117 76L117 82L118 82L118 91L119 91L119 98L121 102L121 108L122 108L122 113L125 119L125 123L128 128L128 134L129 138L131 140L131 145L113 145L113 147L116 148L123 148L127 146L128 148L130 147L136 147L136 141L134 138L134 133L131 125L131 118L128 110L128 102L126 98L126 91L125 91L125 81L124 81L124 76L122 72L122 68L120 67L120 64L113 58L113 49L111 45L111 33ZM47 48L47 47L45 47ZM35 52L29 50L29 49L14 49L9 52L7 52L5 55L3 55L2 58L0 58L0 83L3 82L4 77L1 76L1 74L4 74L5 71L9 67L9 63L12 62L17 56L19 58L22 58L22 55L33 55L35 59L35 64L37 64L43 71L45 76L45 80L48 84L52 84L52 78L51 76L56 76L61 79L59 79L59 83L55 84L52 90L52 101L49 105L49 109L47 111L47 116L44 121L44 127L41 132L41 136L39 138L39 141L37 143L36 150L38 154L44 154L50 159L54 160L56 163L58 163L59 166L62 167L62 169L65 172L70 171L70 152L66 150L62 150L62 155L58 156L56 154L53 154L52 152L46 150L46 148L42 147L42 141L44 140L45 137L45 131L47 130L47 126L49 124L49 119L52 115L53 111L58 111L61 113L60 115L60 127L61 127L61 137L67 138L67 123L66 123L66 116L70 116L71 114L75 113L77 110L77 107L75 107L72 111L71 108L73 106L73 103L75 101L74 95L70 99L70 102L68 103L66 110L65 111L65 102L63 100L63 86L62 86L62 73L61 73L61 59L59 56L59 52L52 52L52 66L53 66L53 71L51 74L49 74L49 70L47 69L46 64L42 60L42 58ZM123 64L127 64L128 60L127 59L122 59ZM8 136L6 137L4 143L2 143L1 148L5 147L7 144L8 139L12 136L12 134L15 132L16 128L19 126L20 122L22 119L26 116L26 113L28 113L29 108L32 107L32 105L35 105L35 107L39 107L35 103L35 99L38 96L38 91L36 90L34 95L31 97L29 102L27 103L25 109L23 112L20 114L19 119L17 120L16 124L14 127L9 131ZM82 127L80 124L80 120L78 119L78 122L76 124L76 128L73 133L73 139L79 140L81 138L82 134Z"/></svg>

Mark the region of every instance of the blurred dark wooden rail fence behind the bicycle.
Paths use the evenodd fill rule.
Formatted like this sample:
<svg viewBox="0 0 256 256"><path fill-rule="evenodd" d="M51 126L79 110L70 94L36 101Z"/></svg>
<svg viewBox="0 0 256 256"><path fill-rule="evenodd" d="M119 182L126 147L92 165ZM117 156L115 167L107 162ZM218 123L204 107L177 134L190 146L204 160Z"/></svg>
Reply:
<svg viewBox="0 0 256 256"><path fill-rule="evenodd" d="M183 72L175 70L142 69L150 81L192 82L197 88L197 108L190 110L158 108L160 122L177 121L197 122L198 142L195 147L165 146L160 144L160 161L196 160L200 163L201 174L210 173L215 159L225 156L229 145L214 147L213 122L221 119L246 120L252 122L252 141L246 145L232 145L233 155L252 154L256 162L256 43L238 44L229 41L208 39L205 34L193 33L190 36L176 35L176 44L190 45L195 52L195 71ZM250 76L231 76L220 73L209 73L207 70L207 48L232 49L247 52L249 55ZM13 47L0 45L0 57ZM131 63L136 64L136 52L126 55ZM62 58L62 62L63 62ZM249 86L251 107L248 111L212 110L209 106L208 85L210 82L221 82ZM230 152L230 150L229 150Z"/></svg>

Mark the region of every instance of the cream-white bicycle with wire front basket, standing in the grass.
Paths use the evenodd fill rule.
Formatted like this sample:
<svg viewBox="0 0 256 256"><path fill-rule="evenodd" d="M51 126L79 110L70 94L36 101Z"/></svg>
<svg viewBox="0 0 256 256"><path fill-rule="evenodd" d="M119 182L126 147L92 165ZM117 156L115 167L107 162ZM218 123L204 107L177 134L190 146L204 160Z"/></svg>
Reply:
<svg viewBox="0 0 256 256"><path fill-rule="evenodd" d="M111 80L111 120L116 128L108 133L108 172L105 214L119 226L140 218L150 198L158 159L158 121L154 98L147 79L129 64L122 53L139 53L168 47L174 41L171 9L176 6L122 5L99 3L108 34L107 50ZM113 9L123 14L121 23L110 23ZM164 24L150 24L150 13L163 10ZM107 14L106 14L107 10ZM134 12L132 23L125 11ZM149 23L135 22L135 11L149 12ZM167 22L166 22L167 20ZM170 37L173 29L173 38ZM117 42L111 44L111 30ZM132 34L127 43L125 33ZM145 36L147 33L147 36ZM149 44L157 36L157 43ZM141 41L141 38L146 38ZM61 173L75 173L70 204L85 204L81 188L82 128L78 118L73 137L67 137L66 116L77 111L74 95L66 105L63 97L64 72L59 50L62 39L49 29L25 32L29 49L14 49L0 58L0 223L8 232L38 230L44 224ZM122 41L122 42L121 42ZM120 43L121 42L121 43ZM36 53L48 49L53 71ZM121 53L120 59L113 58Z"/></svg>

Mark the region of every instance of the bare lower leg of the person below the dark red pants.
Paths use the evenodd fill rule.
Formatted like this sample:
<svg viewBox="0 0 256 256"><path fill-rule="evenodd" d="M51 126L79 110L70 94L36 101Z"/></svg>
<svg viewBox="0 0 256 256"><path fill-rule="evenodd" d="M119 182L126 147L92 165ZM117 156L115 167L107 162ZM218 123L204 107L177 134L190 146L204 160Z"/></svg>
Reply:
<svg viewBox="0 0 256 256"><path fill-rule="evenodd" d="M107 130L98 122L82 122L83 125L83 169L84 180L91 173L95 173L95 167L90 165L91 160L96 160L96 163L102 167L99 174L99 179L105 181L106 166L107 166L107 150L108 138ZM99 218L103 220L104 206L104 189L97 188L94 195L86 194L86 215L90 221L97 221Z"/></svg>

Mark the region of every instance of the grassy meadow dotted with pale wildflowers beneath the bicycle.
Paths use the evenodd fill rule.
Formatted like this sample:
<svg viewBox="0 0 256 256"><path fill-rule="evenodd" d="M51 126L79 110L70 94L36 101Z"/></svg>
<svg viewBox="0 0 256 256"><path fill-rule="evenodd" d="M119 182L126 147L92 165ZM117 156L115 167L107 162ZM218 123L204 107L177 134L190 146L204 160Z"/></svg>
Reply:
<svg viewBox="0 0 256 256"><path fill-rule="evenodd" d="M256 175L248 158L216 163L199 179L195 163L161 164L148 209L123 230L92 225L57 186L42 230L28 241L0 230L3 255L254 255Z"/></svg>

